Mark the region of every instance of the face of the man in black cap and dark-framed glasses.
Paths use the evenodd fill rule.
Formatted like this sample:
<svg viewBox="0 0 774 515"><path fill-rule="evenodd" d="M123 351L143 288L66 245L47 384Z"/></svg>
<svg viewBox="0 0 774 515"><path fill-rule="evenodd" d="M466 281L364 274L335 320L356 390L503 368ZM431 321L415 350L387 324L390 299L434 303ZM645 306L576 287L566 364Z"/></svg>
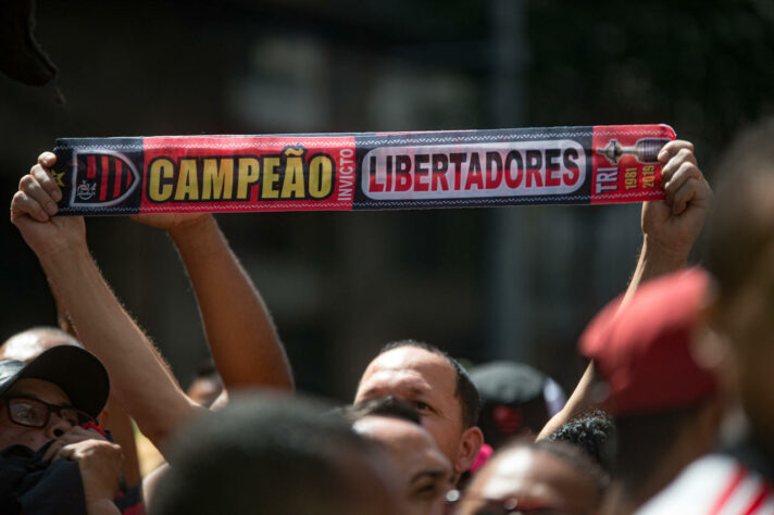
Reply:
<svg viewBox="0 0 774 515"><path fill-rule="evenodd" d="M28 397L58 406L70 404L70 399L60 387L41 379L17 380L5 393L5 397L13 395ZM46 427L20 426L9 419L8 407L4 402L0 401L0 449L21 444L37 451L49 440L63 435L72 428L73 426L65 419L60 418L57 413L51 413Z"/></svg>

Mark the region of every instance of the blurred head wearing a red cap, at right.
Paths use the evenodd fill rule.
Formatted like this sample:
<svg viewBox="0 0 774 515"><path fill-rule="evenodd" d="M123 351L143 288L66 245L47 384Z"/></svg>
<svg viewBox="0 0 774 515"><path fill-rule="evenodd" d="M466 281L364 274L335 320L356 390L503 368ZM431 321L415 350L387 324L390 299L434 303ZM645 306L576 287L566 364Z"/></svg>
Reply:
<svg viewBox="0 0 774 515"><path fill-rule="evenodd" d="M580 338L607 387L615 428L613 476L627 505L666 486L715 443L723 402L699 336L708 276L696 268L608 304Z"/></svg>

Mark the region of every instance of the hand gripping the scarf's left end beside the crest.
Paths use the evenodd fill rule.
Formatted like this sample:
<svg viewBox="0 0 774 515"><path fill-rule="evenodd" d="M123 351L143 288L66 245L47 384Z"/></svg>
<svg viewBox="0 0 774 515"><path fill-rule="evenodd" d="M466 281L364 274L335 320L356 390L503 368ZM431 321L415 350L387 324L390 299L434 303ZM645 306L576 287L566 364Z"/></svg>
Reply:
<svg viewBox="0 0 774 515"><path fill-rule="evenodd" d="M29 174L18 181L11 201L11 222L22 233L30 249L42 258L66 249L86 250L86 226L80 216L54 216L62 198L49 169L57 156L43 152Z"/></svg>

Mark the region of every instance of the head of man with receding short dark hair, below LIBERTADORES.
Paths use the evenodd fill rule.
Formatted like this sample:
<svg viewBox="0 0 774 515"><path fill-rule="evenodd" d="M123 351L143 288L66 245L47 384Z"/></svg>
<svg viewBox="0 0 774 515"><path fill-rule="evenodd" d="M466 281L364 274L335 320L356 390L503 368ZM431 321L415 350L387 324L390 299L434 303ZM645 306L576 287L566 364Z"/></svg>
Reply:
<svg viewBox="0 0 774 515"><path fill-rule="evenodd" d="M403 340L386 346L360 379L354 403L395 395L409 402L449 459L455 475L467 470L483 443L475 427L480 400L457 360L434 346Z"/></svg>

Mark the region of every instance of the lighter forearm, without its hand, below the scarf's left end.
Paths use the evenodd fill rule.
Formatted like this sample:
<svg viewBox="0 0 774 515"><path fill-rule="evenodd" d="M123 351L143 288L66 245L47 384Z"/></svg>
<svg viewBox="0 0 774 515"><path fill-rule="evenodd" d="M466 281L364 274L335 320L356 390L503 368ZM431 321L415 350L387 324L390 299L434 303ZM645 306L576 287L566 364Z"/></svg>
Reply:
<svg viewBox="0 0 774 515"><path fill-rule="evenodd" d="M84 346L105 365L111 388L157 447L196 407L153 346L124 311L86 248L40 256L62 309Z"/></svg>

